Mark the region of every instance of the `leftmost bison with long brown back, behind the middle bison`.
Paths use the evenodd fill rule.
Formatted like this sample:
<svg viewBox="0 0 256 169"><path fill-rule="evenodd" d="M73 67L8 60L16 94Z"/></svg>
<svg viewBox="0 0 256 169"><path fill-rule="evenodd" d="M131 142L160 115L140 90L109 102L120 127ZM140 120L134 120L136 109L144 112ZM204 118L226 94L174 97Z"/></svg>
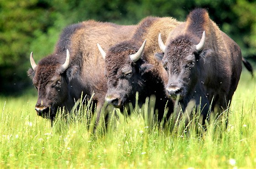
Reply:
<svg viewBox="0 0 256 169"><path fill-rule="evenodd" d="M37 115L52 121L58 108L70 111L81 94L91 98L99 113L107 92L104 60L96 42L104 48L126 39L136 26L119 26L108 22L84 21L66 27L53 54L35 63L30 55L32 78L38 92ZM98 117L98 116L97 116Z"/></svg>

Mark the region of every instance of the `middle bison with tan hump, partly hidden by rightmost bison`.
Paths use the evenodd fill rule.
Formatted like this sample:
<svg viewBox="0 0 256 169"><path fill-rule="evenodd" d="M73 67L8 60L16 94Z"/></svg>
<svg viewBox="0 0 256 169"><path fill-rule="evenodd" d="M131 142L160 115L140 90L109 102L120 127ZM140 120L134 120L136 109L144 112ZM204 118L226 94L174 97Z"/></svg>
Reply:
<svg viewBox="0 0 256 169"><path fill-rule="evenodd" d="M173 18L147 17L139 23L129 40L114 45L107 53L98 45L105 58L105 100L109 104L121 109L128 103L135 106L135 95L138 92L139 106L142 106L147 97L155 95L155 110L158 110L159 119L163 117L168 100L163 82L167 74L161 63L155 59L154 53L160 51L157 42L159 32L167 37L179 24L181 22ZM173 103L169 101L167 107L171 112Z"/></svg>

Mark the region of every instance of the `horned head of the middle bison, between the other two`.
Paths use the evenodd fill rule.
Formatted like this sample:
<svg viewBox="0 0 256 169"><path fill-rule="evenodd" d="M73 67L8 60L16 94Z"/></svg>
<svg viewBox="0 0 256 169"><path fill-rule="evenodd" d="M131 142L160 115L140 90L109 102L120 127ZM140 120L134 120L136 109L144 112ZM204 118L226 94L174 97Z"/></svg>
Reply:
<svg viewBox="0 0 256 169"><path fill-rule="evenodd" d="M153 67L141 57L146 41L140 48L125 41L109 49L107 53L98 44L105 58L107 94L105 100L117 108L123 108L129 102L135 104L135 94L144 89L144 75Z"/></svg>

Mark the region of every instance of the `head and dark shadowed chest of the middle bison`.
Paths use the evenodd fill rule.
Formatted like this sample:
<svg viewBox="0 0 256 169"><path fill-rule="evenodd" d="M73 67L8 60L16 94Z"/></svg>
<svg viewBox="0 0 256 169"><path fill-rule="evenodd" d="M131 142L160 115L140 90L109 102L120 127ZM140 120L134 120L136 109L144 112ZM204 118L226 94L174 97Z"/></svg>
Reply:
<svg viewBox="0 0 256 169"><path fill-rule="evenodd" d="M167 118L173 111L173 103L168 102L164 92L163 79L156 74L156 65L148 63L144 59L143 50L146 41L138 49L136 42L121 42L109 49L105 56L106 76L108 79L108 90L105 100L117 108L123 110L128 104L135 106L135 95L139 93L138 105L141 107L146 98L155 95L155 111L158 111L158 121L164 117L167 111ZM102 50L100 45L99 49ZM124 48L125 47L125 48ZM129 50L127 50L129 49ZM129 56L129 57L127 57ZM165 110L165 106L167 106ZM169 110L168 110L169 109ZM128 114L130 111L128 111Z"/></svg>

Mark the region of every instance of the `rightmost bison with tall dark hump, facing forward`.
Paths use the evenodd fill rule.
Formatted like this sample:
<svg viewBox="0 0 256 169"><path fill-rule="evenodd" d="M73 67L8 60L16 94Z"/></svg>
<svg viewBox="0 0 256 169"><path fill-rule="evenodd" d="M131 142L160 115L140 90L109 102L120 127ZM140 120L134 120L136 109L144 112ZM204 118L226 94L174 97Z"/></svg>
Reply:
<svg viewBox="0 0 256 169"><path fill-rule="evenodd" d="M226 110L240 79L242 55L208 12L192 11L186 22L170 32L165 44L159 35L162 64L169 77L167 95L173 100L178 97L183 111L189 101L199 105L201 98L203 120L212 101L212 110Z"/></svg>

